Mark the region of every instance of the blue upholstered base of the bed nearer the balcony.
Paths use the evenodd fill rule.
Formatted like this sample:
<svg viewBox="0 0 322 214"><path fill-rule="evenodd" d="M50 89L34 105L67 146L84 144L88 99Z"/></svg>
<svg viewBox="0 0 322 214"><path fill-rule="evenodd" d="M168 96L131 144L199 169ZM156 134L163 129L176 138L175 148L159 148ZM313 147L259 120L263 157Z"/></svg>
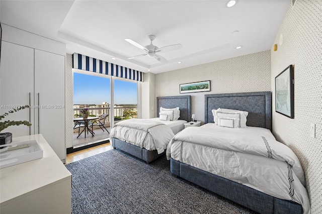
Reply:
<svg viewBox="0 0 322 214"><path fill-rule="evenodd" d="M130 155L133 155L143 161L145 161L146 163L150 163L153 160L157 159L158 157L161 157L163 155L166 154L166 151L164 151L161 154L157 154L156 150L146 150L144 148L129 144L125 141L119 140L117 138L111 138L110 140L112 140L112 147L115 149L120 149Z"/></svg>

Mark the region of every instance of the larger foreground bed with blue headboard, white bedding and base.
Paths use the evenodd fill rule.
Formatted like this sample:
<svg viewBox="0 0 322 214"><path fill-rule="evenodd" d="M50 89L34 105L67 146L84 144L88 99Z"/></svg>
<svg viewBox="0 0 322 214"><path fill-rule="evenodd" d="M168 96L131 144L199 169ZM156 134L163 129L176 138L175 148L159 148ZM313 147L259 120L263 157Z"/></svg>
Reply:
<svg viewBox="0 0 322 214"><path fill-rule="evenodd" d="M271 100L270 91L206 94L205 125L168 144L171 172L259 213L309 213L301 164L271 133Z"/></svg>

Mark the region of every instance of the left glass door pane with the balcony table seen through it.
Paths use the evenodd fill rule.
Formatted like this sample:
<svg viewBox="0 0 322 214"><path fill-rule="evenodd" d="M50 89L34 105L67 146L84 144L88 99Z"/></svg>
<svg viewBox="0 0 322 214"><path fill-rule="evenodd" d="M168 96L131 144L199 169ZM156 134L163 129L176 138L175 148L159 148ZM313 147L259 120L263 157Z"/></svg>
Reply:
<svg viewBox="0 0 322 214"><path fill-rule="evenodd" d="M74 72L73 103L73 146L107 140L111 130L110 76ZM89 111L88 120L80 120L84 109Z"/></svg>

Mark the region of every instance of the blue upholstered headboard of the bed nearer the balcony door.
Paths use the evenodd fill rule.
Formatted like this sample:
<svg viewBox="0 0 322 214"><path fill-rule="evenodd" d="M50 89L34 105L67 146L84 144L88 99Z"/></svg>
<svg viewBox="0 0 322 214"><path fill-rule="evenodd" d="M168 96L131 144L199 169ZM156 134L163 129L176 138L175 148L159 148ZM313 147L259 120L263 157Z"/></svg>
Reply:
<svg viewBox="0 0 322 214"><path fill-rule="evenodd" d="M191 96L158 96L156 97L156 115L159 117L160 107L173 109L179 107L179 120L191 121Z"/></svg>

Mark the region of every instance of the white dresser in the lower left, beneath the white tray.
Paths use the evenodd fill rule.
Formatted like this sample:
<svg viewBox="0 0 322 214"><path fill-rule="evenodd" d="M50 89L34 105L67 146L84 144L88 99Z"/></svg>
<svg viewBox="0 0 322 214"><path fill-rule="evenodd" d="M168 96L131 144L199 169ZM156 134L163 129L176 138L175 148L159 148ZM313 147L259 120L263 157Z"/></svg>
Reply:
<svg viewBox="0 0 322 214"><path fill-rule="evenodd" d="M41 134L43 158L0 169L0 213L71 213L71 174Z"/></svg>

